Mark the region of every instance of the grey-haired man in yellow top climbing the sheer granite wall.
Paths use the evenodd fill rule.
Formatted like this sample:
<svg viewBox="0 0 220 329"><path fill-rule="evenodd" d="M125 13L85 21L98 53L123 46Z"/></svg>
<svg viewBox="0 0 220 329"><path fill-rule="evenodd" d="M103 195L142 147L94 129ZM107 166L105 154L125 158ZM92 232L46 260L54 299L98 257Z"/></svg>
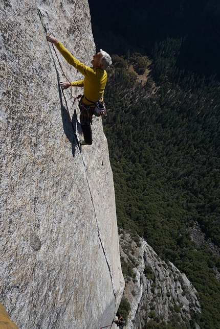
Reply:
<svg viewBox="0 0 220 329"><path fill-rule="evenodd" d="M79 102L80 108L80 124L84 136L84 140L80 140L81 145L92 145L92 116L96 105L101 108L98 111L104 111L103 94L107 82L106 68L112 64L111 57L102 49L99 53L93 55L91 61L93 67L86 66L78 61L71 53L64 48L61 42L58 41L52 34L46 35L47 41L56 45L60 54L73 65L83 76L84 79L73 82L60 82L62 89L67 89L71 85L74 87L84 87L84 95ZM97 115L97 113L95 112ZM99 115L99 114L98 114ZM98 116L97 115L97 116Z"/></svg>

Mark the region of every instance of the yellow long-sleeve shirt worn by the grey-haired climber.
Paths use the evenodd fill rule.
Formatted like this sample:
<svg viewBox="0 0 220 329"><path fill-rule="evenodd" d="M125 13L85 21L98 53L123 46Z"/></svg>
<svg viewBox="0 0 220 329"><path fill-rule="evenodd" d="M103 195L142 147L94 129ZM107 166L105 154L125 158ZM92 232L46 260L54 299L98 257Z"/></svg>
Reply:
<svg viewBox="0 0 220 329"><path fill-rule="evenodd" d="M65 60L73 65L84 76L83 80L71 82L72 86L84 87L83 103L91 105L91 103L95 103L102 99L107 82L106 71L102 68L89 67L81 63L67 49L65 49L61 42L56 43L56 48Z"/></svg>

